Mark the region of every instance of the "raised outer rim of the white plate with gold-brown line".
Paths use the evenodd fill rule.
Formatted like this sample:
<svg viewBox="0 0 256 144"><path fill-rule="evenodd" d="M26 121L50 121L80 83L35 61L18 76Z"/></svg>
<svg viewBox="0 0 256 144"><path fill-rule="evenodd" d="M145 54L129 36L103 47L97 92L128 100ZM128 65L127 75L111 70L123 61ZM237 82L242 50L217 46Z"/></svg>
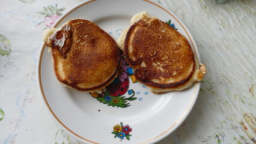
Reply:
<svg viewBox="0 0 256 144"><path fill-rule="evenodd" d="M56 20L56 22L53 24L52 28L55 28L56 25L59 25L59 23L62 22L62 20L65 19L67 16L69 16L69 14L72 13L73 11L77 10L78 8L80 8L80 7L82 7L86 4L94 2L94 1L97 1L97 0L87 0L87 1L81 2L80 4L76 5L75 7L70 8L70 10L66 11L66 13L62 14L62 16L59 17L58 20ZM179 23L179 25L182 27L184 32L186 32L186 34L189 37L189 40L192 44L193 51L194 51L195 55L197 56L198 60L200 61L200 55L199 55L197 44L195 43L194 37L190 33L189 29L187 29L186 25L184 25L184 23L177 16L175 16L175 14L172 13L172 11L169 10L169 8L165 7L164 5L159 5L156 2L153 2L152 0L138 0L138 1L149 2L150 4L155 5L156 7L162 9L163 11L168 13L170 16L172 16ZM92 140L85 139L84 137L79 136L74 131L70 130L66 125L64 125L61 122L61 120L55 115L55 113L53 112L53 110L49 106L49 103L47 102L47 99L44 95L43 85L41 83L41 61L42 61L42 58L43 58L43 52L44 52L45 47L46 47L46 45L44 43L42 43L41 47L40 47L40 52L39 52L39 55L38 55L38 61L37 61L37 84L38 84L38 89L40 91L41 99L44 102L44 106L46 107L46 109L47 109L50 117L53 119L53 121L59 127L64 129L68 134L72 135L73 137L76 137L76 139L81 140L82 142L85 142L85 143L88 143L88 142L97 143L97 142L93 142ZM144 142L139 142L139 143L159 142L160 140L164 139L166 136L171 134L174 130L177 129L177 127L179 127L182 124L182 122L187 118L187 116L189 115L189 113L193 109L193 107L195 105L195 102L197 101L197 98L198 98L199 89L200 89L200 82L195 82L194 85L195 85L195 88L194 88L193 96L192 96L189 104L187 105L186 109L184 110L183 114L180 116L180 118L178 118L178 120L173 125L171 125L171 127L167 128L166 131L163 131L163 133L160 133L158 136L153 137L152 139L145 140Z"/></svg>

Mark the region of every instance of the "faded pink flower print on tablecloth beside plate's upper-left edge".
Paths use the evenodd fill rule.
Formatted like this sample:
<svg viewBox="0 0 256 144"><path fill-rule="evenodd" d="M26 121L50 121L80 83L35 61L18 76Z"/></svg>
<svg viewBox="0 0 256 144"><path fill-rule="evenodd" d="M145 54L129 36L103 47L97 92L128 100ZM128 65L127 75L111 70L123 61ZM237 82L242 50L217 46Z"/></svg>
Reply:
<svg viewBox="0 0 256 144"><path fill-rule="evenodd" d="M52 27L52 25L56 22L56 20L61 17L61 11L64 11L66 8L57 8L57 4L55 7L52 5L48 5L47 7L43 7L43 11L38 11L37 14L43 15L44 20L38 23L37 25L41 25L43 23L48 28Z"/></svg>

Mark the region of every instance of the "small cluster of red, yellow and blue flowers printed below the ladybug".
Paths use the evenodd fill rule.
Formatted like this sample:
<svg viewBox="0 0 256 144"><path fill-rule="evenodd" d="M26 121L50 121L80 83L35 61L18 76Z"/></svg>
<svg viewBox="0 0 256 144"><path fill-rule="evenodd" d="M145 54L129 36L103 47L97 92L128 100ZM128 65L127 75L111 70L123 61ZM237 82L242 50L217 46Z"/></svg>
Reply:
<svg viewBox="0 0 256 144"><path fill-rule="evenodd" d="M117 124L113 127L112 134L115 134L114 138L118 137L123 140L125 137L127 140L130 140L130 136L132 136L130 132L132 132L132 128L128 124L123 125L123 122L120 122L120 125Z"/></svg>

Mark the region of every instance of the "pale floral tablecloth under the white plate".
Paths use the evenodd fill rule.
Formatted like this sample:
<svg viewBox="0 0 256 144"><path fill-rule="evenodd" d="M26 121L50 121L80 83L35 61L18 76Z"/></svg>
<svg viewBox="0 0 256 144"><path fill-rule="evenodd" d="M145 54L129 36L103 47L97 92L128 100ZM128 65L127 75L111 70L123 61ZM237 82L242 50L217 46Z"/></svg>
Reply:
<svg viewBox="0 0 256 144"><path fill-rule="evenodd" d="M82 0L0 0L0 143L82 143L38 91L41 35ZM190 30L207 74L194 109L157 143L256 143L256 1L158 0Z"/></svg>

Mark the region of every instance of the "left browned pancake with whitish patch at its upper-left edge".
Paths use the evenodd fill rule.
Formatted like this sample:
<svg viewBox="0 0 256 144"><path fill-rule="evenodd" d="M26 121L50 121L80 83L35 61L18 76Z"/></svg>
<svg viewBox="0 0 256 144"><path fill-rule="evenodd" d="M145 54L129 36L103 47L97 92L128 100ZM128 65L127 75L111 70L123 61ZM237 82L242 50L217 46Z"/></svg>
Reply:
<svg viewBox="0 0 256 144"><path fill-rule="evenodd" d="M49 37L59 82L79 91L96 92L117 76L120 49L114 39L88 20L64 23Z"/></svg>

